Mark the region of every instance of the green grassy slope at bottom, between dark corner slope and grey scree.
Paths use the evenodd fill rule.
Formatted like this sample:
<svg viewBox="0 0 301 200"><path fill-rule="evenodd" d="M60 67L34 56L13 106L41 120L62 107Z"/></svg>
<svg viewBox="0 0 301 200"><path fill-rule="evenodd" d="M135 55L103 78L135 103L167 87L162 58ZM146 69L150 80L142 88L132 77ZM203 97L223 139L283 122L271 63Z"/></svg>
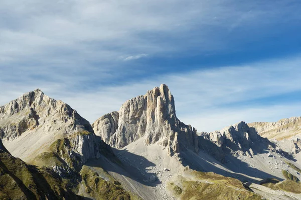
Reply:
<svg viewBox="0 0 301 200"><path fill-rule="evenodd" d="M125 191L116 180L113 182L105 180L97 172L84 165L80 171L82 184L85 191L96 199L117 199L129 200L137 199Z"/></svg>

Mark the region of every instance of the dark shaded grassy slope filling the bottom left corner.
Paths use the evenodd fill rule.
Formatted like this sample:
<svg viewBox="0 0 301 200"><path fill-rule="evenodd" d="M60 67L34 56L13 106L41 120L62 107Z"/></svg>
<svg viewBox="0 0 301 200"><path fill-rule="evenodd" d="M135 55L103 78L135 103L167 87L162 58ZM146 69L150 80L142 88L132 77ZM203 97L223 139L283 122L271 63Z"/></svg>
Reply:
<svg viewBox="0 0 301 200"><path fill-rule="evenodd" d="M80 199L62 180L0 150L0 199Z"/></svg>

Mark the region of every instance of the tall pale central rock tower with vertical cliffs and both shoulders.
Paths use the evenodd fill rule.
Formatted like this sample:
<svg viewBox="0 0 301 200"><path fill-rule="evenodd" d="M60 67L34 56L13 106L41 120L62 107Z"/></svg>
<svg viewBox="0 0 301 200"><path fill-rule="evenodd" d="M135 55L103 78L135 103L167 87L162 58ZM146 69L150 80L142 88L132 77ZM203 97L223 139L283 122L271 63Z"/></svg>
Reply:
<svg viewBox="0 0 301 200"><path fill-rule="evenodd" d="M93 123L95 133L111 146L122 148L143 137L146 145L158 142L171 155L186 147L198 151L196 129L177 118L174 97L165 84L127 100L116 115L106 114Z"/></svg>

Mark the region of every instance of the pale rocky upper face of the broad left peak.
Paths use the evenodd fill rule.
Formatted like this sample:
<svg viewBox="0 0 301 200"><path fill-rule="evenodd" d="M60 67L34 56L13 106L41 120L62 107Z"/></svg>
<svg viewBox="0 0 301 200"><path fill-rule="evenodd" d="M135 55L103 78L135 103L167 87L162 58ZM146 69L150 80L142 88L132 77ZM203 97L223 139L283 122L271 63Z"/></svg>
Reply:
<svg viewBox="0 0 301 200"><path fill-rule="evenodd" d="M40 89L0 107L0 138L14 156L27 162L53 151L72 168L99 156L103 145L76 110ZM53 148L56 143L61 144L57 152Z"/></svg>

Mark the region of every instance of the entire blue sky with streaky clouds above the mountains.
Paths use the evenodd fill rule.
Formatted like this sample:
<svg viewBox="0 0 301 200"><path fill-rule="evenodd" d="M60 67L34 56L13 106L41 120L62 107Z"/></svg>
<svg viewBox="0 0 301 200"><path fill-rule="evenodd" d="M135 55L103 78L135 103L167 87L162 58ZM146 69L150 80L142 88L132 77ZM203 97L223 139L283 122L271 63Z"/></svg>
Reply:
<svg viewBox="0 0 301 200"><path fill-rule="evenodd" d="M198 131L301 115L299 0L1 0L0 104L40 88L91 123L165 83Z"/></svg>

